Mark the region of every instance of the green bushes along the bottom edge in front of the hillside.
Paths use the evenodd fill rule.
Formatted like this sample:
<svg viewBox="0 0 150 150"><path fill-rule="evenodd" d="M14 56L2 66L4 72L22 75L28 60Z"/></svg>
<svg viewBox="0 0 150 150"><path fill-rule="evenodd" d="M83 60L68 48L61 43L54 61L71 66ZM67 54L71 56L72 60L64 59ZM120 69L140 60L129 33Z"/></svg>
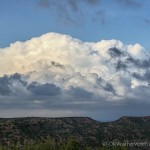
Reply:
<svg viewBox="0 0 150 150"><path fill-rule="evenodd" d="M16 144L13 145L11 148L9 147L0 147L0 150L93 150L92 147L83 148L81 147L80 143L76 141L74 138L69 138L65 143L58 143L55 139L48 137L46 140L43 141L28 141L28 143L21 145ZM94 148L94 150L127 150L126 147L99 147Z"/></svg>

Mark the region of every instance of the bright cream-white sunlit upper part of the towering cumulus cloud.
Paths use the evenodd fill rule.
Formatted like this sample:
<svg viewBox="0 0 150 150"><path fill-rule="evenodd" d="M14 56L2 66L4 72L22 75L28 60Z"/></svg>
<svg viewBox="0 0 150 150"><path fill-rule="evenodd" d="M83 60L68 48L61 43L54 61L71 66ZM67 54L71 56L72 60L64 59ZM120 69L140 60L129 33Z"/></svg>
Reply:
<svg viewBox="0 0 150 150"><path fill-rule="evenodd" d="M111 48L116 48L118 51L113 51L111 55L112 53L109 52ZM122 55L121 57L117 56L118 52L119 55ZM28 75L30 82L50 82L63 88L73 85L93 91L94 86L99 88L95 77L92 77L93 74L105 82L116 73L124 78L126 78L124 74L128 74L133 84L135 80L132 79L132 72L138 72L140 68L134 66L131 69L129 62L125 62L131 57L135 60L149 59L146 50L139 44L126 46L117 40L87 43L68 35L48 33L1 49L0 68L1 76L17 72ZM118 61L122 61L130 72L116 71ZM119 95L126 93L126 85L123 80L115 79L112 84Z"/></svg>

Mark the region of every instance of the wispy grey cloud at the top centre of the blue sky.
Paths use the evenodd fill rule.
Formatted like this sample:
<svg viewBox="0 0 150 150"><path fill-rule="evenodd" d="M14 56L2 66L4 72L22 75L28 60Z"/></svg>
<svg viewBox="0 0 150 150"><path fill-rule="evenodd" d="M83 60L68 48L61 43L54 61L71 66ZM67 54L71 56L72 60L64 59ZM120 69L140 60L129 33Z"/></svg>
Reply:
<svg viewBox="0 0 150 150"><path fill-rule="evenodd" d="M55 0L39 0L38 6L43 9L56 12L57 22L72 25L81 25L85 20L87 13L83 11L83 6L90 9L90 7L96 7L100 5L100 0L63 0L61 2ZM102 23L105 21L104 11L94 12L94 20L101 20ZM88 15L90 17L90 15ZM92 19L91 17L90 19Z"/></svg>

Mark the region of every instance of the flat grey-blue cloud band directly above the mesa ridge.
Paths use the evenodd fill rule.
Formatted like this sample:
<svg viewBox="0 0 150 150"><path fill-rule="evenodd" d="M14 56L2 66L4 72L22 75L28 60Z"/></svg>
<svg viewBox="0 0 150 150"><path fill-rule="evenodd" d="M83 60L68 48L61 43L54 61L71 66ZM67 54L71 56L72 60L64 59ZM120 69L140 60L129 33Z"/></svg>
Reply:
<svg viewBox="0 0 150 150"><path fill-rule="evenodd" d="M141 97L140 97L141 98ZM74 103L67 102L61 99L59 103L53 104L48 101L43 104L44 107L33 107L30 105L19 105L17 101L10 101L10 107L8 105L0 106L0 117L69 117L69 116L88 116L100 121L110 121L118 119L122 116L147 116L150 115L149 106L150 103L141 101L139 99L129 99L126 101L105 101L99 99L99 101L93 100L93 103ZM23 101L23 99L22 99ZM25 100L24 100L25 101ZM55 99L56 101L56 99ZM15 104L14 104L15 102ZM1 102L0 102L1 104ZM35 104L34 104L35 105ZM42 105L42 104L38 104ZM3 107L3 108L2 108Z"/></svg>

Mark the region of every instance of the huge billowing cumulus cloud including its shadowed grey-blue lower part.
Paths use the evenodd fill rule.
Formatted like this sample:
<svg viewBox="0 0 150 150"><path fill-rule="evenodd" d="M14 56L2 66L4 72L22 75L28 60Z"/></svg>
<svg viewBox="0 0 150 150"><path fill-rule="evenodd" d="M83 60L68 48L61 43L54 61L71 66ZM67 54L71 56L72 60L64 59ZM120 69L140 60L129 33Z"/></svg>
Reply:
<svg viewBox="0 0 150 150"><path fill-rule="evenodd" d="M47 33L0 49L0 62L4 108L13 102L72 109L79 103L88 109L107 101L149 103L150 54L139 44Z"/></svg>

